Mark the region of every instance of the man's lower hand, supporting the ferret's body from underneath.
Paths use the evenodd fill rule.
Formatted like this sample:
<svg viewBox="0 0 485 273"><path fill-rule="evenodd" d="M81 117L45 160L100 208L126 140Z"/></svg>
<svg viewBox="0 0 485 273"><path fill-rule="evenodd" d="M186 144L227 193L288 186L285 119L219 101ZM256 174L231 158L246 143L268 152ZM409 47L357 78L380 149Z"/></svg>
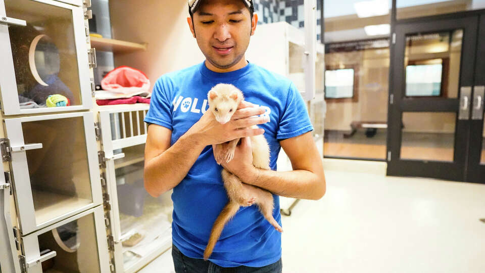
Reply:
<svg viewBox="0 0 485 273"><path fill-rule="evenodd" d="M212 148L214 149L214 154L216 154L216 149L220 149L220 145L212 145ZM221 166L235 176L240 177L244 173L245 177L254 177L256 179L258 170L253 166L251 139L249 137L242 138L241 143L234 150L234 158L229 163L223 160ZM250 181L247 183L250 183Z"/></svg>

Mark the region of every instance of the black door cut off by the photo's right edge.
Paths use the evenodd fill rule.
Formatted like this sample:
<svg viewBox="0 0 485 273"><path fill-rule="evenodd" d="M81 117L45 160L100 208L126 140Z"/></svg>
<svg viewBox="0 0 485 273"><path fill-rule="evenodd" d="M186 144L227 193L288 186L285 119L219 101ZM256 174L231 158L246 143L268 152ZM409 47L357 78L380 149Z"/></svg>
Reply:
<svg viewBox="0 0 485 273"><path fill-rule="evenodd" d="M478 26L477 61L475 62L475 83L471 102L471 133L467 181L485 183L485 118L483 100L485 99L485 14L480 16Z"/></svg>

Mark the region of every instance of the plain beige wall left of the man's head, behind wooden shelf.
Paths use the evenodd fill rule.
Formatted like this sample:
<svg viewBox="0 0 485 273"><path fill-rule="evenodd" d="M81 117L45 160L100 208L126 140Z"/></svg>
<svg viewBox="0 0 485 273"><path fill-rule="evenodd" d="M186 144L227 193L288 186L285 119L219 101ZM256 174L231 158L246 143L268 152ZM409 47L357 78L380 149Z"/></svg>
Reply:
<svg viewBox="0 0 485 273"><path fill-rule="evenodd" d="M186 1L116 0L110 13L115 39L148 43L147 51L115 54L115 66L143 71L152 87L162 74L205 59L187 25Z"/></svg>

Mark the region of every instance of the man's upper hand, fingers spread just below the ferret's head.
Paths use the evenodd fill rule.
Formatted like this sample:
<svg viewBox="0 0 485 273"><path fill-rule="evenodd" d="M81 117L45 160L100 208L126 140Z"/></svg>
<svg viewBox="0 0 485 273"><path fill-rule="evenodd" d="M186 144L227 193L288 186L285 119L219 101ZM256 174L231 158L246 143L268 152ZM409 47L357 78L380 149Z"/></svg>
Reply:
<svg viewBox="0 0 485 273"><path fill-rule="evenodd" d="M264 112L263 108L255 107L252 103L243 101L239 104L231 120L226 124L221 124L215 119L214 114L208 110L188 132L204 146L263 134L264 129L248 127L268 122L269 117L267 116L254 117L264 114Z"/></svg>

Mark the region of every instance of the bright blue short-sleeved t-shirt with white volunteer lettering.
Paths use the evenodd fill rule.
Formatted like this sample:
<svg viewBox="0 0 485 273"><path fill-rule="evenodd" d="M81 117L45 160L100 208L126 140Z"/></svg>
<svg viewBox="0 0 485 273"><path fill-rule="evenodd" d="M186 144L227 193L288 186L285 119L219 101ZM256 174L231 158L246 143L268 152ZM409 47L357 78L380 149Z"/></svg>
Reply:
<svg viewBox="0 0 485 273"><path fill-rule="evenodd" d="M281 149L278 140L313 130L300 93L283 76L249 63L236 71L217 73L205 63L163 75L155 83L150 110L144 121L172 130L173 145L209 109L207 93L218 83L239 88L245 100L266 109L270 122L264 128L276 170ZM212 225L228 199L212 146L207 146L173 189L173 244L191 258L203 257ZM279 198L273 216L281 225ZM256 205L241 207L226 224L210 260L223 267L260 267L281 257L281 234L263 217Z"/></svg>

